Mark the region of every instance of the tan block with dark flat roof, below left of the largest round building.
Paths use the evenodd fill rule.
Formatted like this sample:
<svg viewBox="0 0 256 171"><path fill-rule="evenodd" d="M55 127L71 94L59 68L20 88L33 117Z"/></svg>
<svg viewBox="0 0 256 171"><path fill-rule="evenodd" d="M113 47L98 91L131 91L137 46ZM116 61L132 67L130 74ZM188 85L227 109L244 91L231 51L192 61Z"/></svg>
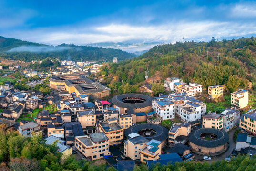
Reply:
<svg viewBox="0 0 256 171"><path fill-rule="evenodd" d="M116 121L100 122L98 130L109 138L109 145L121 144L123 140L123 128Z"/></svg>

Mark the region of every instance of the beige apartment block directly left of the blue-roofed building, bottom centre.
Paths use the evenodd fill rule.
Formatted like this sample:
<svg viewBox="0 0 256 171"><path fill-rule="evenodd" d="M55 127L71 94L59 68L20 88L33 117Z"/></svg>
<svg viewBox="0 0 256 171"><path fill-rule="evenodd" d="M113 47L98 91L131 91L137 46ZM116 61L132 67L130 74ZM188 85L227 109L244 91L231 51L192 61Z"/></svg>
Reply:
<svg viewBox="0 0 256 171"><path fill-rule="evenodd" d="M146 143L149 140L137 133L131 133L128 136L130 138L124 141L124 156L132 160L140 159L140 152L146 147Z"/></svg>

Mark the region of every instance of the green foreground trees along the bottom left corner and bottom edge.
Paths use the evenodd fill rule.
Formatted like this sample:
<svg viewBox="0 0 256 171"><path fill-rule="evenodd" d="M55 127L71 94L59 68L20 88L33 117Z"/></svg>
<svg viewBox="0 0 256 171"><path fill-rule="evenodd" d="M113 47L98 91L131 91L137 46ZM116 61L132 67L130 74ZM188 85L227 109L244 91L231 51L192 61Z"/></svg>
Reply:
<svg viewBox="0 0 256 171"><path fill-rule="evenodd" d="M26 138L18 131L0 125L0 171L117 171L95 161L76 160L75 155L63 156L57 141L47 145L41 134ZM102 159L104 160L104 159ZM204 162L176 162L175 165L156 164L147 168L135 165L133 171L255 171L256 156L236 156L225 160Z"/></svg>

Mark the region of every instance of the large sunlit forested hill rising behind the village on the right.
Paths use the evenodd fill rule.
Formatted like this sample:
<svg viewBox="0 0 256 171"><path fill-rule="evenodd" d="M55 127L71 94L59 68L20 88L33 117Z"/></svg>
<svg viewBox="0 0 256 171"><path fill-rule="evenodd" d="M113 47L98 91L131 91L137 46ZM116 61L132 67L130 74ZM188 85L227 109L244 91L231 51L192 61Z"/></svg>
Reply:
<svg viewBox="0 0 256 171"><path fill-rule="evenodd" d="M210 42L158 45L129 61L104 66L101 74L113 90L122 85L122 80L136 89L136 85L144 82L146 68L151 78L160 77L162 82L166 77L176 76L185 82L203 84L204 88L211 85L225 85L229 91L248 85L251 88L249 82L256 82L256 38L222 41L212 38ZM115 82L110 78L115 78Z"/></svg>

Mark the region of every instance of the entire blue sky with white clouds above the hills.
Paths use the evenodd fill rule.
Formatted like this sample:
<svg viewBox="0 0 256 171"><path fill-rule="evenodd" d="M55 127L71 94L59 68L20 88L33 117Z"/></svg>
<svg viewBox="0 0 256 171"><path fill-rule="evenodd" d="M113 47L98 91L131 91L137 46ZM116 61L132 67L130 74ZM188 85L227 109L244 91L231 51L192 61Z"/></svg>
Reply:
<svg viewBox="0 0 256 171"><path fill-rule="evenodd" d="M131 52L183 37L255 36L255 21L256 1L0 0L1 36L48 45L124 42L108 46Z"/></svg>

